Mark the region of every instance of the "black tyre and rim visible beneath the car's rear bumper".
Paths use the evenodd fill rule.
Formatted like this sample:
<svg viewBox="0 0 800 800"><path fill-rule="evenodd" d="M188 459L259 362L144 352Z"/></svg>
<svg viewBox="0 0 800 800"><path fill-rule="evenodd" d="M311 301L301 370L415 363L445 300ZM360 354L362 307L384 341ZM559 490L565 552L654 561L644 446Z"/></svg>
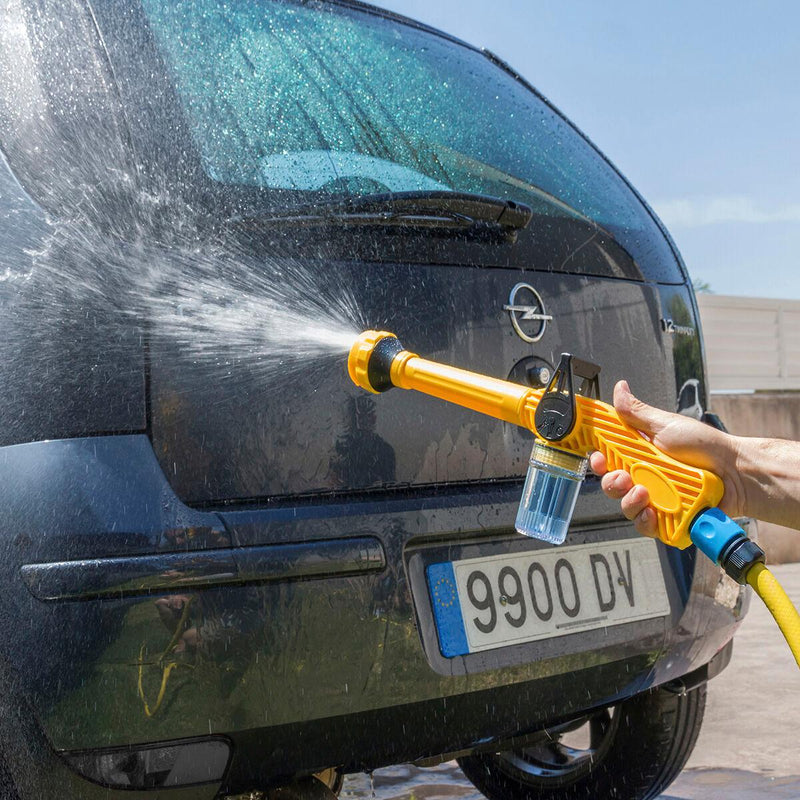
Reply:
<svg viewBox="0 0 800 800"><path fill-rule="evenodd" d="M549 729L526 747L458 760L489 800L649 800L694 749L706 687L655 689Z"/></svg>

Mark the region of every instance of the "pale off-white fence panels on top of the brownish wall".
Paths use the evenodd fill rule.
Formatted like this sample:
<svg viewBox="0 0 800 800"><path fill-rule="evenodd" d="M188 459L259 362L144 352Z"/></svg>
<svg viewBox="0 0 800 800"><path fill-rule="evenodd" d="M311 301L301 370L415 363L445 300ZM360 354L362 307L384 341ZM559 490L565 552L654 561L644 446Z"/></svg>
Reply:
<svg viewBox="0 0 800 800"><path fill-rule="evenodd" d="M697 301L712 392L800 390L800 300Z"/></svg>

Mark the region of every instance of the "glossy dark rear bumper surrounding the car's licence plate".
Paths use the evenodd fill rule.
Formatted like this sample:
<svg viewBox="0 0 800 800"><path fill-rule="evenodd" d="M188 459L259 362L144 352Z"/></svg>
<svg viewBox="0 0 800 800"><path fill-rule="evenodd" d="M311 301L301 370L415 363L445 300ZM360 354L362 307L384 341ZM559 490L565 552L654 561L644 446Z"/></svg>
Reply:
<svg viewBox="0 0 800 800"><path fill-rule="evenodd" d="M52 748L221 735L231 790L614 702L710 662L746 610L710 562L665 550L669 617L456 665L417 561L514 546L518 487L216 514L175 497L144 436L3 448L0 473L3 657ZM630 535L611 519L572 534Z"/></svg>

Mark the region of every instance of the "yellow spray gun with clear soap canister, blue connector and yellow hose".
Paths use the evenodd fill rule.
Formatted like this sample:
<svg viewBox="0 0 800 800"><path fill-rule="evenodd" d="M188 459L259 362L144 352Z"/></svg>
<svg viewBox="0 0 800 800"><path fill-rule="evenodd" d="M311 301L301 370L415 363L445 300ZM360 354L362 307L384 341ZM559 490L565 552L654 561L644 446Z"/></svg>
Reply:
<svg viewBox="0 0 800 800"><path fill-rule="evenodd" d="M599 450L609 470L624 469L650 493L658 536L691 544L764 600L800 666L800 615L764 566L764 552L717 508L723 485L711 472L666 455L598 399L599 368L564 354L544 389L479 375L404 350L393 333L364 331L350 349L348 371L369 392L416 389L532 431L536 437L515 527L561 544L586 474ZM582 385L575 391L575 375ZM591 395L594 396L591 396Z"/></svg>

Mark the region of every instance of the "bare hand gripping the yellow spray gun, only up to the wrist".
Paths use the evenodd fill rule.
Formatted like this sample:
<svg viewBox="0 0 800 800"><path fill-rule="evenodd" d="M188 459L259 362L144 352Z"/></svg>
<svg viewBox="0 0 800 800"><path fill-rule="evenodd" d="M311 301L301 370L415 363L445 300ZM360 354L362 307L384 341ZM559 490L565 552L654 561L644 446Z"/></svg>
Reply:
<svg viewBox="0 0 800 800"><path fill-rule="evenodd" d="M624 422L645 434L659 450L722 478L725 494L719 507L728 516L743 513L744 492L736 470L735 437L691 417L643 403L631 394L627 381L619 381L614 387L614 408ZM602 476L603 491L620 501L622 513L633 521L636 530L643 536L656 537L656 514L647 489L635 485L624 470L609 472L602 453L592 453L589 463L592 470Z"/></svg>

